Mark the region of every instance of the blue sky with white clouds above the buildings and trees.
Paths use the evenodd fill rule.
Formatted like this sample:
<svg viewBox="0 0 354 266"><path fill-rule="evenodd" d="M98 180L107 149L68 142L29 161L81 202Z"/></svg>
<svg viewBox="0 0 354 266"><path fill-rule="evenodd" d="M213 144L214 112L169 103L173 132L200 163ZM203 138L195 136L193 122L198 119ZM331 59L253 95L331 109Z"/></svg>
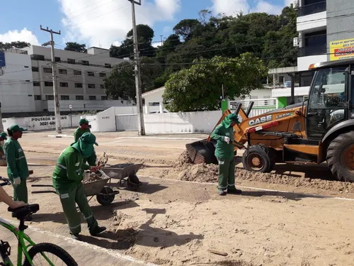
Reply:
<svg viewBox="0 0 354 266"><path fill-rule="evenodd" d="M154 45L167 38L179 21L199 18L198 12L209 9L213 14L235 16L266 12L280 14L294 0L142 0L136 6L137 23L154 29ZM119 45L132 28L132 5L128 0L12 0L1 4L0 42L16 40L40 45L50 40L51 28L61 31L55 35L56 48L65 43L86 43L87 47L109 48Z"/></svg>

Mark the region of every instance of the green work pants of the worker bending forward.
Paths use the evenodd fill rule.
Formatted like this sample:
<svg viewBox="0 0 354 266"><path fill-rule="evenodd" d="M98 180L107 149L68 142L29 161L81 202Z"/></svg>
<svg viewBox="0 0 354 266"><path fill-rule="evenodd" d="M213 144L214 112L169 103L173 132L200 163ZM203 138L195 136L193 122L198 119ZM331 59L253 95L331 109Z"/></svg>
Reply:
<svg viewBox="0 0 354 266"><path fill-rule="evenodd" d="M67 189L57 189L57 194L59 194L65 218L67 218L70 232L73 235L81 232L81 219L76 211L76 204L79 206L79 210L86 220L90 233L96 231L98 223L92 214L91 207L86 199L84 186L81 182Z"/></svg>

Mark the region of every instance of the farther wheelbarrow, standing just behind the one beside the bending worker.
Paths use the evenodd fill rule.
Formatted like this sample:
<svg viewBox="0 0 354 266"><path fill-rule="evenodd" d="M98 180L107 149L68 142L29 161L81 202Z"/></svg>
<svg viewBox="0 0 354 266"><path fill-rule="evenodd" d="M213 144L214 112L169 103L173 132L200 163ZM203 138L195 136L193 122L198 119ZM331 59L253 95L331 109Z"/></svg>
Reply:
<svg viewBox="0 0 354 266"><path fill-rule="evenodd" d="M136 191L142 182L139 181L137 177L137 171L142 167L141 164L119 164L119 165L105 165L102 168L102 172L108 175L108 177L113 179L119 179L118 184L124 186L127 184L128 189Z"/></svg>

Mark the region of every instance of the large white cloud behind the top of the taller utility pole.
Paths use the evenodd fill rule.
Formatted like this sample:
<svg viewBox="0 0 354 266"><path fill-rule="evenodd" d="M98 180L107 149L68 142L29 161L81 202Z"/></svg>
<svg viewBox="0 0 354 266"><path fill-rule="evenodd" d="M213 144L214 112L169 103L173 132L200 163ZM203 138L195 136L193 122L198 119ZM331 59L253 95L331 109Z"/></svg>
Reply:
<svg viewBox="0 0 354 266"><path fill-rule="evenodd" d="M131 4L127 0L59 0L67 28L68 40L87 43L88 46L102 45L109 48L125 38L132 28ZM96 3L96 4L95 4ZM156 21L170 21L181 9L181 0L142 0L135 6L137 23L154 26Z"/></svg>

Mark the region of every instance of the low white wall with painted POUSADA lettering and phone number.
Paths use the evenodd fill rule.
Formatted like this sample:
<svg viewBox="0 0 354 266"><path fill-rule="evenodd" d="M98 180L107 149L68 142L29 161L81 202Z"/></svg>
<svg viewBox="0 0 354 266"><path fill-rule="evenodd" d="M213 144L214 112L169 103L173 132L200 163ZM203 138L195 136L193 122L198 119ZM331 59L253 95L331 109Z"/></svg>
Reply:
<svg viewBox="0 0 354 266"><path fill-rule="evenodd" d="M80 115L60 116L62 128L70 128L79 126ZM4 129L17 124L28 131L43 131L55 128L55 116L34 116L22 118L3 118Z"/></svg>

